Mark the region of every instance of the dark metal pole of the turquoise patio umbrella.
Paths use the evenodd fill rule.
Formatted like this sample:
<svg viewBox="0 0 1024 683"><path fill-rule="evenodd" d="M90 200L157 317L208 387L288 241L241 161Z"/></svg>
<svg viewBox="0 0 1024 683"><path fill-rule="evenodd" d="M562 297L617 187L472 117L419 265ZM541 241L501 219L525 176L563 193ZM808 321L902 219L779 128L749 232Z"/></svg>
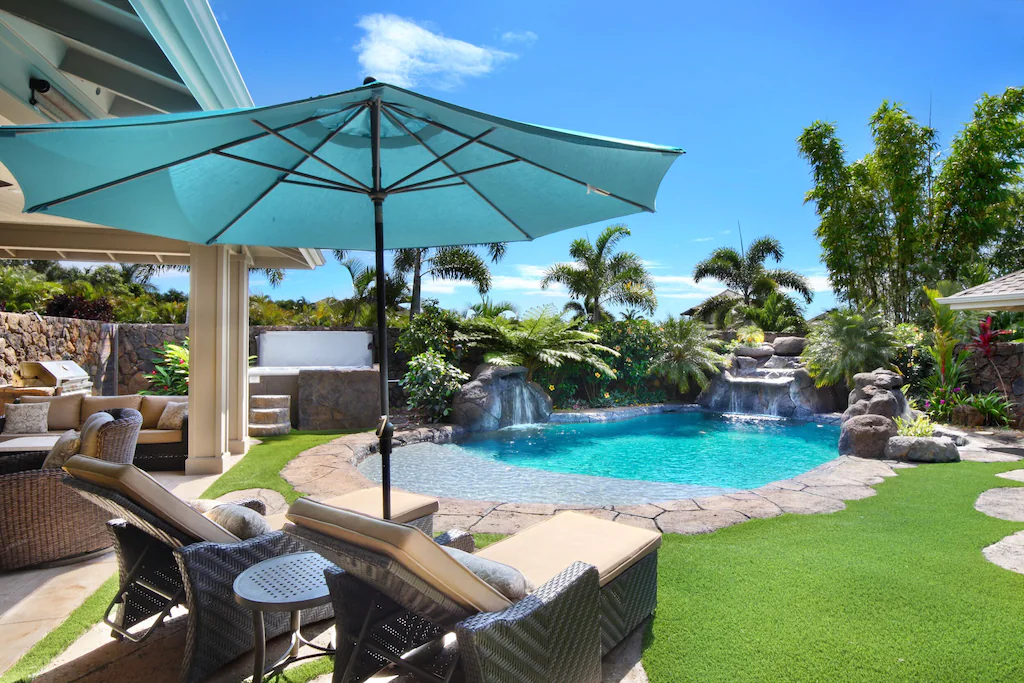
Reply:
<svg viewBox="0 0 1024 683"><path fill-rule="evenodd" d="M394 425L388 420L389 400L387 391L387 275L384 272L384 191L381 183L381 100L379 96L370 100L370 153L373 172L374 241L377 256L377 372L381 383L381 421L377 427L380 439L378 452L381 454L381 490L383 501L381 511L384 519L391 518L391 435Z"/></svg>

